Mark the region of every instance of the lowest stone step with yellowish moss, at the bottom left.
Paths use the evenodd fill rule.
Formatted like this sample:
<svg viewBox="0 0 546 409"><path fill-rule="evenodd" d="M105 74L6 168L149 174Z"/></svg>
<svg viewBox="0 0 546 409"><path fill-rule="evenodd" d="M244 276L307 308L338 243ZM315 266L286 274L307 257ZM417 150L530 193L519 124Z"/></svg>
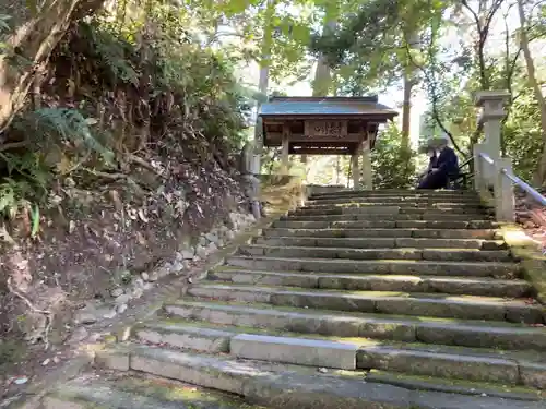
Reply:
<svg viewBox="0 0 546 409"><path fill-rule="evenodd" d="M106 377L106 378L105 378ZM252 407L236 396L198 390L165 378L81 376L46 396L40 409L236 409ZM259 409L256 407L256 409Z"/></svg>

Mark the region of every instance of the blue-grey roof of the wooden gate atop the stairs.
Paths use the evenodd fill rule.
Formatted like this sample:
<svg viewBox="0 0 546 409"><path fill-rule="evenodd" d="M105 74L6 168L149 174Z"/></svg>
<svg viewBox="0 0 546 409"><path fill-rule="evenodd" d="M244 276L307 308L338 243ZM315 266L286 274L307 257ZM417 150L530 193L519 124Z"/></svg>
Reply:
<svg viewBox="0 0 546 409"><path fill-rule="evenodd" d="M329 116L379 113L396 116L393 109L371 97L272 97L260 116Z"/></svg>

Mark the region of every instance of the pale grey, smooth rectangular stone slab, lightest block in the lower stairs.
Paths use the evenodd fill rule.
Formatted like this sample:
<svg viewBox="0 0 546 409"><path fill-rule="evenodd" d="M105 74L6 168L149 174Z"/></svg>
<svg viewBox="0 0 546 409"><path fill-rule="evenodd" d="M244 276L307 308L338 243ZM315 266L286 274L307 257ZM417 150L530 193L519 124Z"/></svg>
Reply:
<svg viewBox="0 0 546 409"><path fill-rule="evenodd" d="M232 354L261 361L356 369L358 346L319 339L241 334L232 338Z"/></svg>

